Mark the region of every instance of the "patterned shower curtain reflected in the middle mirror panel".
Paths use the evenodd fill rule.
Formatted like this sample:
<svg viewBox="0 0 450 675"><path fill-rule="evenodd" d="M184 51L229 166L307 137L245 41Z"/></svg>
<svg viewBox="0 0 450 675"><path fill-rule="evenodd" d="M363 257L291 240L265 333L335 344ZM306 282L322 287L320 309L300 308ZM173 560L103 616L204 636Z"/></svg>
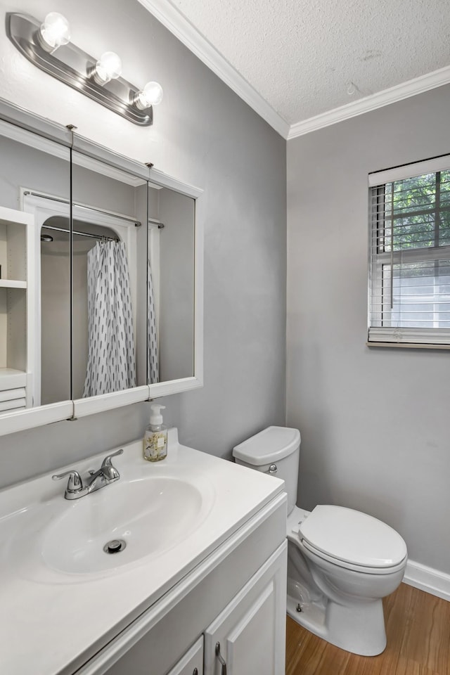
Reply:
<svg viewBox="0 0 450 675"><path fill-rule="evenodd" d="M83 397L136 387L133 314L123 242L97 242L87 255L88 359Z"/></svg>

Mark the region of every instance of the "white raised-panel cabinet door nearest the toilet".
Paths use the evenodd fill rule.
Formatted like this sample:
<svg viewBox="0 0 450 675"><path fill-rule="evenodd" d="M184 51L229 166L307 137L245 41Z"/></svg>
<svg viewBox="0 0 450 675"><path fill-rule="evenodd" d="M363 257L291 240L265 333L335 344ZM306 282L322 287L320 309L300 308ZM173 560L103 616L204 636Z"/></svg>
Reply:
<svg viewBox="0 0 450 675"><path fill-rule="evenodd" d="M285 541L207 628L205 675L283 675L286 565Z"/></svg>

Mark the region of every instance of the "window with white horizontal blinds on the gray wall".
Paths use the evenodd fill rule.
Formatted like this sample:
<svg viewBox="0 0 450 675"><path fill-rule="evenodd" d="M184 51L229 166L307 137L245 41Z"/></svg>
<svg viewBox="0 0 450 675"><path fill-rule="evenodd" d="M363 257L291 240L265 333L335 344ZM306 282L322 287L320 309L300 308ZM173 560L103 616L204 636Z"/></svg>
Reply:
<svg viewBox="0 0 450 675"><path fill-rule="evenodd" d="M369 186L368 341L450 345L450 156Z"/></svg>

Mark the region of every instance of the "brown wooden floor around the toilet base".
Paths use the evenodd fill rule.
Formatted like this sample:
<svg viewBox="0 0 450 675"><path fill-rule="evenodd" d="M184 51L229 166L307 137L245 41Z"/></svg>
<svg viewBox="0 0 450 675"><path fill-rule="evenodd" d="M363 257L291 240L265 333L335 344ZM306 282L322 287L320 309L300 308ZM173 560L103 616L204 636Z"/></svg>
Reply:
<svg viewBox="0 0 450 675"><path fill-rule="evenodd" d="M450 675L450 603L400 584L384 600L387 647L373 657L333 647L288 617L286 675Z"/></svg>

